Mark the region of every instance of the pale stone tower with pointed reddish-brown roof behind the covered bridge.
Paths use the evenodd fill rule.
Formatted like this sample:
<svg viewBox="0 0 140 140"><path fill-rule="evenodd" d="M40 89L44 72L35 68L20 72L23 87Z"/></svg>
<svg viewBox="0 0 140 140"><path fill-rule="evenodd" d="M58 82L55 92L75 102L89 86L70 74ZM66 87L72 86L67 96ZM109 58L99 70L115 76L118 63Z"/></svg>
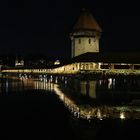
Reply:
<svg viewBox="0 0 140 140"><path fill-rule="evenodd" d="M72 58L87 52L99 52L99 39L102 29L91 13L82 9L71 36Z"/></svg>

